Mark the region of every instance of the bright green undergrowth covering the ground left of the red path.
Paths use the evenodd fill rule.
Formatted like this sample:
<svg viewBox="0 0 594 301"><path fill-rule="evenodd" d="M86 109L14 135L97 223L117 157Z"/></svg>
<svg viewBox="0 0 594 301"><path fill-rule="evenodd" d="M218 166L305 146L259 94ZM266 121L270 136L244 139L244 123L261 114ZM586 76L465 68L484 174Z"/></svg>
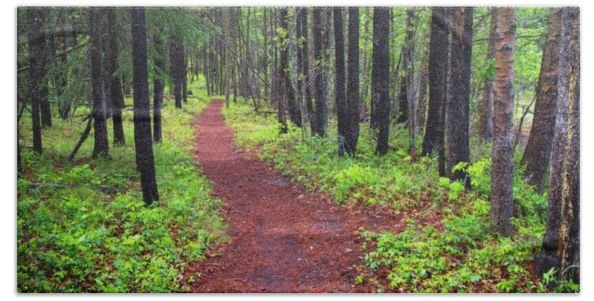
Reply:
<svg viewBox="0 0 594 301"><path fill-rule="evenodd" d="M18 292L185 292L200 277L179 275L190 262L203 260L211 243L228 238L219 217L222 203L209 196L211 185L190 155L195 147L192 120L209 102L204 93L194 94L202 99L188 99L181 110L172 100L163 107L163 143L153 148L160 201L149 208L135 170L131 110L124 113L127 144L110 147L110 159L89 158L91 131L75 163L65 163L84 127L80 118L54 118L53 127L43 129L43 156L23 153L24 180L17 194ZM21 120L21 145L31 144L30 131L30 119ZM31 180L127 192L110 196L88 188L31 189Z"/></svg>

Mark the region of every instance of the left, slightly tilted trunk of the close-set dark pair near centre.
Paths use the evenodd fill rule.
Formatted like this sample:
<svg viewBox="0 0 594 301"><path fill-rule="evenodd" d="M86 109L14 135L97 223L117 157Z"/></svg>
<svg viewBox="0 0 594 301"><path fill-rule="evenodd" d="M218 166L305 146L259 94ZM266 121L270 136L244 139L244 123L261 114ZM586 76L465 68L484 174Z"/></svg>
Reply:
<svg viewBox="0 0 594 301"><path fill-rule="evenodd" d="M342 8L334 7L334 102L336 103L336 118L338 122L338 153L345 154L346 137L349 129L348 113L346 112L346 69L345 69L345 36L343 35Z"/></svg>

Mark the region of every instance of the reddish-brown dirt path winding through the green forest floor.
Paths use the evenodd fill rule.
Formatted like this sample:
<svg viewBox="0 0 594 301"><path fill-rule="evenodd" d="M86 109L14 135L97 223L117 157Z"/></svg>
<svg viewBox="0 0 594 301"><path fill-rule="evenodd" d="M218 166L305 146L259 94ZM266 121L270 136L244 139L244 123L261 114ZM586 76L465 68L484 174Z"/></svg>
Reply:
<svg viewBox="0 0 594 301"><path fill-rule="evenodd" d="M323 194L308 194L255 156L237 152L233 132L211 99L200 118L195 159L224 202L222 217L232 240L219 256L196 264L201 277L190 292L304 293L371 292L354 286L364 239L359 227L394 226L396 218L349 210ZM193 270L193 269L192 269Z"/></svg>

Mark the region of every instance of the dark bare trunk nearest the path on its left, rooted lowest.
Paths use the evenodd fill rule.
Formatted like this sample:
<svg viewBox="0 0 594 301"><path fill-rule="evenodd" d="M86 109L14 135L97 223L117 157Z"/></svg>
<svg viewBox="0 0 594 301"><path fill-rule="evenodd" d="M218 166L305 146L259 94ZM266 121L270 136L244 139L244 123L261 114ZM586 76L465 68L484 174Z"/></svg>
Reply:
<svg viewBox="0 0 594 301"><path fill-rule="evenodd" d="M148 206L159 201L151 143L149 73L144 8L132 8L132 72L134 80L134 144L140 171L143 201Z"/></svg>

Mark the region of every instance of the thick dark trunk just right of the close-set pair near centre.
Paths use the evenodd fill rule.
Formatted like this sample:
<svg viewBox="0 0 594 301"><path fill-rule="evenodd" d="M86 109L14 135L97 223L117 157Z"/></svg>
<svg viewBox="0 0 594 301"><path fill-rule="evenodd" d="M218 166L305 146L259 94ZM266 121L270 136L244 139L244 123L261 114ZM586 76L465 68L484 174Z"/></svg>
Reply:
<svg viewBox="0 0 594 301"><path fill-rule="evenodd" d="M377 148L375 153L388 153L390 131L390 19L389 8L373 9L372 85L377 102Z"/></svg>

